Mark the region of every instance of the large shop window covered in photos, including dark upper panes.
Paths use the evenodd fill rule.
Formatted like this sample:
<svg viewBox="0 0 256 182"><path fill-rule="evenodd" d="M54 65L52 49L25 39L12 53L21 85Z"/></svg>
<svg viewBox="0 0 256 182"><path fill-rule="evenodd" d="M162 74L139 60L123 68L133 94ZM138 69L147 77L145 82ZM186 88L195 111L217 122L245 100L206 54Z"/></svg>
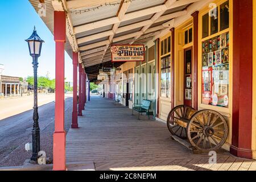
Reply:
<svg viewBox="0 0 256 182"><path fill-rule="evenodd" d="M220 19L216 16L210 17L211 35L215 37L202 42L202 104L220 107L229 106L229 32L224 34L219 31L229 28L229 1L216 7L220 10ZM214 15L214 13L212 13ZM216 13L218 14L218 13ZM203 38L204 23L207 22L203 16ZM208 16L209 17L209 16ZM214 18L215 17L215 18ZM218 30L220 23L220 30ZM207 24L207 23L206 23ZM218 34L217 34L218 33ZM209 35L207 35L209 36Z"/></svg>

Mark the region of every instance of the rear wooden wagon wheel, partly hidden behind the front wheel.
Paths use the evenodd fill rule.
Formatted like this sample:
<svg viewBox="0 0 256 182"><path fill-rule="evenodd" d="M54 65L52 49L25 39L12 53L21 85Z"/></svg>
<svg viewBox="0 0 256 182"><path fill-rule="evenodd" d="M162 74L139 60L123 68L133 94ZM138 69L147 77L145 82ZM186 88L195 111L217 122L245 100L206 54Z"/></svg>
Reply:
<svg viewBox="0 0 256 182"><path fill-rule="evenodd" d="M176 135L181 139L187 138L187 129L178 125L178 119L185 119L189 110L194 110L191 106L180 105L174 107L168 115L167 118L167 127L172 135Z"/></svg>

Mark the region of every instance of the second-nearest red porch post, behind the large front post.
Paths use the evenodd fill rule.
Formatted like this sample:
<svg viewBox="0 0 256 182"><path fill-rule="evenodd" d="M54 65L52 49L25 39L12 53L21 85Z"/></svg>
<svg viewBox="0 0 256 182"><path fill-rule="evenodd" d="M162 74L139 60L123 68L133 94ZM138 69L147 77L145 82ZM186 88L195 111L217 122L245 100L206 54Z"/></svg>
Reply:
<svg viewBox="0 0 256 182"><path fill-rule="evenodd" d="M72 113L72 129L78 128L77 123L77 63L78 53L73 52L73 113Z"/></svg>

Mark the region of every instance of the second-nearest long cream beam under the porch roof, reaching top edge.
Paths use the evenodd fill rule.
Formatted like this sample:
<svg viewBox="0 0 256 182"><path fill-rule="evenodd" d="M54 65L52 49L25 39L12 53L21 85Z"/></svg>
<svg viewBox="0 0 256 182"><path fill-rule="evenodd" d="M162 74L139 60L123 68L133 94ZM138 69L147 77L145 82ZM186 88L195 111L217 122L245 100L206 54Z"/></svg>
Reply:
<svg viewBox="0 0 256 182"><path fill-rule="evenodd" d="M144 10L135 11L132 13L127 13L123 16L123 19L119 19L118 17L113 17L113 18L107 18L104 20L99 20L97 22L87 23L82 26L75 27L75 32L76 32L76 34L79 34L84 31L89 31L89 30L93 30L95 28L108 26L110 24L121 23L121 22L124 22L127 20L139 18L141 16L159 13L161 11L166 11L168 9L174 9L175 7L188 5L189 3L193 3L193 2L197 2L197 1L201 1L201 0L180 0L180 1L176 1L171 6L167 6L166 4L164 4L164 5L159 5L159 6L151 7L148 9L144 9Z"/></svg>

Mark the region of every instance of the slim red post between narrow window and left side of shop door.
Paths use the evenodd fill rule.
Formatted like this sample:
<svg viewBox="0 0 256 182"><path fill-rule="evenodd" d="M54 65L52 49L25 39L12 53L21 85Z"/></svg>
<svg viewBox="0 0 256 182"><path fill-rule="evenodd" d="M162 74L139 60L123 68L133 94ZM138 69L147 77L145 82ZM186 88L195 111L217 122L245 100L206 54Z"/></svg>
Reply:
<svg viewBox="0 0 256 182"><path fill-rule="evenodd" d="M172 57L172 73L171 73L171 75L172 75L172 80L171 80L171 90L172 90L172 95L171 95L171 97L172 97L172 101L171 101L171 109L173 109L174 108L174 99L175 99L175 97L174 97L174 84L175 84L175 74L174 74L174 72L175 72L175 69L174 69L174 66L175 66L175 63L174 63L174 61L175 61L175 57L174 57L174 55L175 55L175 52L174 52L174 48L175 48L175 45L174 45L174 39L175 39L175 28L171 28L171 57Z"/></svg>

